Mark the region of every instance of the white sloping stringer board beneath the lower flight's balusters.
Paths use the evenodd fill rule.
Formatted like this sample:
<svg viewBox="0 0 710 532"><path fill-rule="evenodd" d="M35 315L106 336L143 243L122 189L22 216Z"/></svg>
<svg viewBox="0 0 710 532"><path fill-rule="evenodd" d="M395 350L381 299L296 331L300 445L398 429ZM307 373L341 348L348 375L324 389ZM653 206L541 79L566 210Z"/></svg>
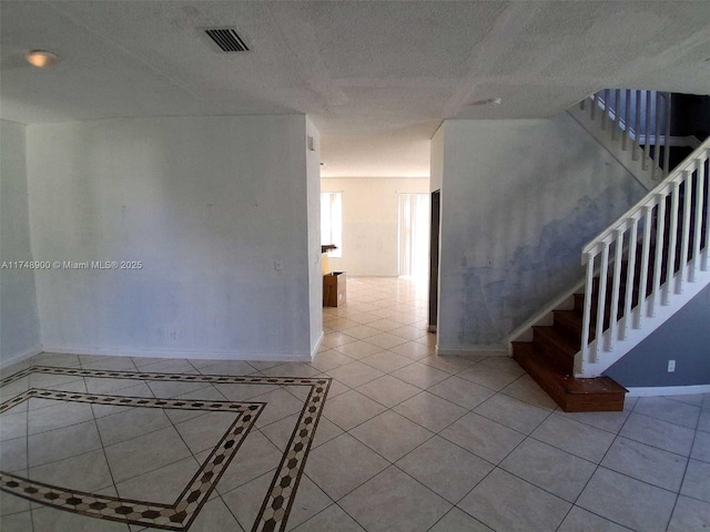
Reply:
<svg viewBox="0 0 710 532"><path fill-rule="evenodd" d="M702 252L701 252L702 253ZM692 278L692 263L686 265L686 279ZM622 317L617 321L616 332L626 330L625 338L613 338L611 350L606 351L604 349L597 349L599 347L599 339L594 339L589 342L590 352L597 352L597 360L589 361L587 360L582 365L581 351L577 352L575 356L575 377L578 378L592 378L598 377L604 374L607 369L609 369L615 362L623 358L631 349L638 346L641 341L648 338L656 329L658 329L661 325L663 325L671 316L673 316L678 310L684 307L693 297L696 297L700 291L706 288L710 284L710 269L697 268L694 270L694 280L689 282L686 280L682 284L682 291L678 293L673 289L674 286L680 284L681 272L679 270L676 275L670 279L671 289L670 294L672 297L669 297L668 304L656 305L656 313L653 316L648 316L646 311L647 308L650 308L650 301L653 295L648 296L642 304L640 310L643 311L640 320L640 327L636 327L638 324L638 310L639 308L631 310L631 314L627 317ZM660 294L665 294L666 287L668 283L663 284L660 288ZM666 301L663 301L666 303ZM632 323L628 328L622 327L626 319L631 319ZM601 335L601 341L605 342L602 345L609 345L611 340L611 327L608 328ZM584 370L582 370L584 366Z"/></svg>

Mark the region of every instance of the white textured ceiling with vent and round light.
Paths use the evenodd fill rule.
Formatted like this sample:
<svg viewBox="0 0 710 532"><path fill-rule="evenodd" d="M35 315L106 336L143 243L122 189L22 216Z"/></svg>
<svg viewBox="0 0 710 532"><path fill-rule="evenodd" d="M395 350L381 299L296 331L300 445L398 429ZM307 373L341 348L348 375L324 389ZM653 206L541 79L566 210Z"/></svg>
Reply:
<svg viewBox="0 0 710 532"><path fill-rule="evenodd" d="M334 176L428 175L444 119L546 117L602 88L710 93L708 0L2 0L0 24L3 119L307 113ZM210 27L252 51L215 52ZM30 48L60 64L29 66Z"/></svg>

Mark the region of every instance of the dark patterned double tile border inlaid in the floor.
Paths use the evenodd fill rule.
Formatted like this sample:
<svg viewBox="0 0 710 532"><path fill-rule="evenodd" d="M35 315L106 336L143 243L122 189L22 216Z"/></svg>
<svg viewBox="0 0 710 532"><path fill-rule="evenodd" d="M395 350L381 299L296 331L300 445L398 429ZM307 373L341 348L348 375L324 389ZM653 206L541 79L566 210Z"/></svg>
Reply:
<svg viewBox="0 0 710 532"><path fill-rule="evenodd" d="M72 375L77 377L149 381L310 387L308 397L304 401L296 427L291 434L281 463L276 469L276 474L272 480L258 515L254 521L252 532L285 530L332 380L329 378L152 374L34 366L2 379L0 387L14 382L31 374ZM267 403L264 402L152 399L115 395L77 393L49 389L29 389L1 403L0 413L30 398L125 407L235 412L235 421L230 426L220 442L203 462L200 470L192 478L189 485L185 487L173 504L134 501L65 490L42 482L31 481L16 474L0 472L0 490L41 504L99 519L182 531L186 531L197 516L202 505L216 487L222 473L224 473L232 458L234 458L257 417L267 406Z"/></svg>

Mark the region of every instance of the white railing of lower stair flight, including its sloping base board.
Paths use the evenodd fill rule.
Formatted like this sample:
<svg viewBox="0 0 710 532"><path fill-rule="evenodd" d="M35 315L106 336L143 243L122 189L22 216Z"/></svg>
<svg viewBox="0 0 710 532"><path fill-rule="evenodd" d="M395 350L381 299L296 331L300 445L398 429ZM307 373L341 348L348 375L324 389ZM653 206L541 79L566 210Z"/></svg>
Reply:
<svg viewBox="0 0 710 532"><path fill-rule="evenodd" d="M710 139L584 247L578 376L600 375L710 282L709 157Z"/></svg>

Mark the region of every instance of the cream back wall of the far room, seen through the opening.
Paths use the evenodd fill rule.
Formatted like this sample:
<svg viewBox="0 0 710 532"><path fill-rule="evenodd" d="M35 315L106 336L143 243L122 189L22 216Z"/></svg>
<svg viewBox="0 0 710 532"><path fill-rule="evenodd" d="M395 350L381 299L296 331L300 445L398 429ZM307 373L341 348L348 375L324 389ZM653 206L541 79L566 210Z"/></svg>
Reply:
<svg viewBox="0 0 710 532"><path fill-rule="evenodd" d="M324 177L323 192L343 193L343 257L331 269L348 275L396 276L397 194L428 194L426 177Z"/></svg>

